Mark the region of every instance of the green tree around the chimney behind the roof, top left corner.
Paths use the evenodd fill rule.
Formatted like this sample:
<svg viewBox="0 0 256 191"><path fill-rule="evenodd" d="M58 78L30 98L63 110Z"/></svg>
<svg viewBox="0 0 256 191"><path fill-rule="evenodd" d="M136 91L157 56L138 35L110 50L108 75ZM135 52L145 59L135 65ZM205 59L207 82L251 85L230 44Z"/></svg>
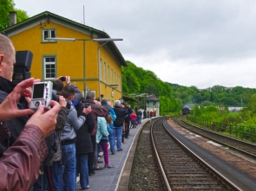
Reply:
<svg viewBox="0 0 256 191"><path fill-rule="evenodd" d="M0 5L0 30L10 26L10 11L16 11L16 22L29 18L26 11L15 9L13 0L0 0Z"/></svg>

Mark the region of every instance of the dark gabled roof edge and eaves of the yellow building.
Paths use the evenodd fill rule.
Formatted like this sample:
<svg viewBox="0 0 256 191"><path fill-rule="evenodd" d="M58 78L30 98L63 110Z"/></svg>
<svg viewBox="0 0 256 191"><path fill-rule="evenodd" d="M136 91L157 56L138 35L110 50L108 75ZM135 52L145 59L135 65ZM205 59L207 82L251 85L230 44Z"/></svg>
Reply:
<svg viewBox="0 0 256 191"><path fill-rule="evenodd" d="M40 13L36 16L32 16L29 19L23 21L23 22L18 22L6 29L3 29L0 31L0 33L4 35L10 35L11 33L15 33L16 31L19 31L24 28L28 28L31 24L38 22L38 24L42 25L42 21L50 22L50 21L56 21L56 22L62 22L63 24L67 24L69 28L75 28L79 29L82 32L85 32L90 35L91 38L96 36L96 38L110 38L110 36L105 33L104 31L98 30L91 28L87 25L84 25L79 22L74 22L69 20L68 18L58 16L56 14L53 14L49 11L44 11L43 13ZM104 42L102 42L104 43ZM128 67L126 61L124 60L123 56L121 55L121 52L119 49L116 47L114 41L109 41L106 45L105 48L108 50L110 54L115 58L115 60L123 67Z"/></svg>

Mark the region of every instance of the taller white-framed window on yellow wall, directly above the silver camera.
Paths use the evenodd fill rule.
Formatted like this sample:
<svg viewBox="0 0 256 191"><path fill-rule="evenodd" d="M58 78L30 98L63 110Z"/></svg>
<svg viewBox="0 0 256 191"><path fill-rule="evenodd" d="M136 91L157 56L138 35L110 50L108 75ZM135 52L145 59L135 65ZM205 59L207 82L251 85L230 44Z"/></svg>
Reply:
<svg viewBox="0 0 256 191"><path fill-rule="evenodd" d="M55 56L45 56L43 58L43 72L45 80L56 79L56 57Z"/></svg>

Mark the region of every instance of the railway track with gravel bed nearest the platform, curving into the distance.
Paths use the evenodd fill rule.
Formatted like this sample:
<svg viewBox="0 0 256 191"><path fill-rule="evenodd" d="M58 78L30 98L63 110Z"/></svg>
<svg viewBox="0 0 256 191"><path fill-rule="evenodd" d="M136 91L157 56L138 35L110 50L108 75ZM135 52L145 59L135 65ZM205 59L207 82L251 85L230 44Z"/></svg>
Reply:
<svg viewBox="0 0 256 191"><path fill-rule="evenodd" d="M128 190L240 190L167 133L164 120L144 124Z"/></svg>

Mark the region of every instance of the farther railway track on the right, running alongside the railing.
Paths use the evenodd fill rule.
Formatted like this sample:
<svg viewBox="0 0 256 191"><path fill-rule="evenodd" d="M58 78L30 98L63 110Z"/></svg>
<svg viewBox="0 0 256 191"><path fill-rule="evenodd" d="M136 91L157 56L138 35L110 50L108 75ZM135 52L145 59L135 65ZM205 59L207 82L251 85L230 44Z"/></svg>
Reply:
<svg viewBox="0 0 256 191"><path fill-rule="evenodd" d="M247 143L237 138L227 137L220 133L198 127L194 124L189 124L182 117L173 117L173 120L189 131L193 131L200 136L207 137L208 139L213 140L216 143L220 143L229 149L238 150L240 153L246 154L246 156L251 156L254 159L256 158L256 144Z"/></svg>

